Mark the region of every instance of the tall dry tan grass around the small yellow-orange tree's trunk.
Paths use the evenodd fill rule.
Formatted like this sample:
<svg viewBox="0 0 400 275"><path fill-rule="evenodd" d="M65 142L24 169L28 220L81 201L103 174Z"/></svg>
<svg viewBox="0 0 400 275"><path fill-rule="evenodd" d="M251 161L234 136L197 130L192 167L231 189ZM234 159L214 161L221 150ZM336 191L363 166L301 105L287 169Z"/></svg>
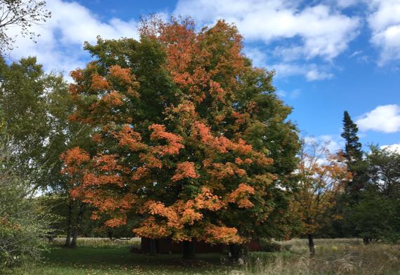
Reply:
<svg viewBox="0 0 400 275"><path fill-rule="evenodd" d="M316 255L308 255L307 240L282 242L285 253L253 253L233 274L400 274L400 245L373 243L359 239L319 239Z"/></svg>

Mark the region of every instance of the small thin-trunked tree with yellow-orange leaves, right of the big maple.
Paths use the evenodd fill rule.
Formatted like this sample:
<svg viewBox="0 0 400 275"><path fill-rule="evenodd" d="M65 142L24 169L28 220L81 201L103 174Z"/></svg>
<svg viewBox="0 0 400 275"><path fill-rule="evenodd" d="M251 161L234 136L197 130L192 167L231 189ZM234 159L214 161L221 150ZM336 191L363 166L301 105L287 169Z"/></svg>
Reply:
<svg viewBox="0 0 400 275"><path fill-rule="evenodd" d="M346 163L340 154L331 154L325 145L313 140L303 142L300 163L295 177L298 186L295 190L295 209L303 224L303 232L309 241L309 253L314 255L314 232L324 224L328 210L335 206L335 195L342 192L351 179Z"/></svg>

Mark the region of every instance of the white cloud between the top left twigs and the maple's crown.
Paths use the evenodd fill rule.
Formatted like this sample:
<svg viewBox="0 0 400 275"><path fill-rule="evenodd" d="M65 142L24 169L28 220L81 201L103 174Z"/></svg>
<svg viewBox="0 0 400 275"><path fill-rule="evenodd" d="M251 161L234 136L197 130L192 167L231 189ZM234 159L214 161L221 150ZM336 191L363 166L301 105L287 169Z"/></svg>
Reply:
<svg viewBox="0 0 400 275"><path fill-rule="evenodd" d="M89 58L88 53L82 50L84 41L95 43L98 35L105 39L138 37L135 20L113 18L102 22L88 8L76 2L46 2L52 17L44 24L33 26L34 32L41 35L36 39L37 43L18 36L17 48L10 54L12 58L36 56L46 70L69 72L76 67L84 67ZM18 29L10 31L18 33Z"/></svg>

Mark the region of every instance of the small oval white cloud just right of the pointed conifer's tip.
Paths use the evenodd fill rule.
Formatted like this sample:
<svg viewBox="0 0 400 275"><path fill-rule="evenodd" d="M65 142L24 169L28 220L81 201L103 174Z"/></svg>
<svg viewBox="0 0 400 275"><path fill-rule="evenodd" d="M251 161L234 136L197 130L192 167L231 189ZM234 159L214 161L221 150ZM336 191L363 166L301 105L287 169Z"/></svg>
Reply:
<svg viewBox="0 0 400 275"><path fill-rule="evenodd" d="M363 114L356 124L360 130L375 130L383 133L400 131L400 106L382 105Z"/></svg>

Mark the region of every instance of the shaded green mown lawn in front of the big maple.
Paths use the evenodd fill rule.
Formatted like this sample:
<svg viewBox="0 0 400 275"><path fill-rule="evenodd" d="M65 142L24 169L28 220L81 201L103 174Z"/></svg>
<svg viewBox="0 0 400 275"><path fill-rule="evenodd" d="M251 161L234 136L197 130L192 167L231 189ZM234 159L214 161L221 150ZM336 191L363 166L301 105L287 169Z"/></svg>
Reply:
<svg viewBox="0 0 400 275"><path fill-rule="evenodd" d="M129 253L128 247L55 247L32 274L226 274L228 268L221 264L226 255L218 253L199 254L189 262L181 257Z"/></svg>

